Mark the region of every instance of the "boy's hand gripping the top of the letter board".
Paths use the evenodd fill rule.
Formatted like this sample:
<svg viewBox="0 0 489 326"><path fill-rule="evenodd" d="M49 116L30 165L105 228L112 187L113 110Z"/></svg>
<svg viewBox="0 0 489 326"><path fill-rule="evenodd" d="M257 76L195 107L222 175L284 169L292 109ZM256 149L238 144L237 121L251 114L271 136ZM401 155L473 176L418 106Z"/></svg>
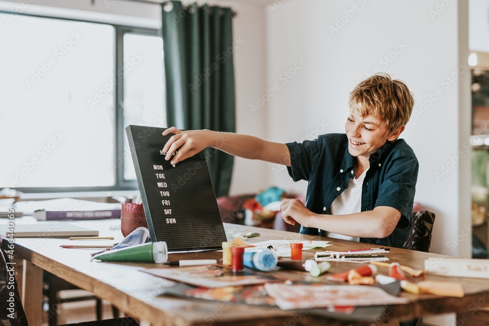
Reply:
<svg viewBox="0 0 489 326"><path fill-rule="evenodd" d="M181 131L175 127L170 127L163 131L163 136L174 133L163 147L166 152L165 160L172 159L172 164L177 164L186 158L194 156L212 143L212 137L209 130L188 130ZM172 155L175 151L175 156Z"/></svg>

